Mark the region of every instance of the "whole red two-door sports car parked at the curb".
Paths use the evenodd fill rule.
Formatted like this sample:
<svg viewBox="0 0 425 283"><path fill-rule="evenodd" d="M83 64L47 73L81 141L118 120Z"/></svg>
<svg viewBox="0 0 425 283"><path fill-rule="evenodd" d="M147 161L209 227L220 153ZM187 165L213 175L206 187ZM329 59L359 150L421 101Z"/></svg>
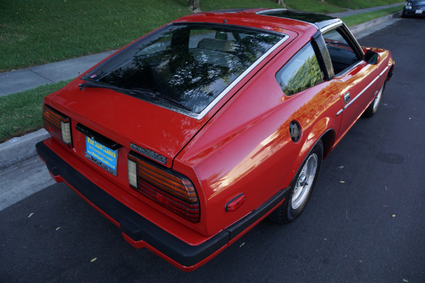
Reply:
<svg viewBox="0 0 425 283"><path fill-rule="evenodd" d="M375 114L394 61L338 18L196 13L44 100L38 154L135 248L185 271L270 215L293 221L322 160Z"/></svg>

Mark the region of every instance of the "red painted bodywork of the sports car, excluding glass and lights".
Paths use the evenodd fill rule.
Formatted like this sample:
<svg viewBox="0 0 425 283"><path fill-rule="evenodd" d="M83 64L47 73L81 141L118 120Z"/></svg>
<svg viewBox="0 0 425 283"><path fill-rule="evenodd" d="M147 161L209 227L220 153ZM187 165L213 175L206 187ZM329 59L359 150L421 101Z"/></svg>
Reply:
<svg viewBox="0 0 425 283"><path fill-rule="evenodd" d="M50 138L38 145L40 157L47 163L55 180L65 180L117 226L123 224L118 217L98 207L94 203L96 198L86 197L76 187L77 183L62 179L62 173L55 173L57 166L52 163L53 159L58 159L48 160L49 155L45 152L60 156L60 162L73 168L69 170L78 171L81 180L88 180L101 188L119 205L123 204L188 246L202 246L215 241L222 233L231 231L229 227L249 219L267 204L268 208L262 214L247 221L245 226L241 226L243 229L236 229L238 233L230 236L229 240L215 243L215 250L200 260L187 261L188 264L179 262L152 243L135 240L123 230L125 240L132 246L149 248L182 270L195 270L208 262L278 207L285 195L280 195L280 198L276 195L290 187L314 144L326 137L324 154L327 156L373 102L387 74L392 73L394 62L390 52L363 48L363 52L372 50L378 54L378 64L358 62L343 76L286 96L275 76L293 54L312 40L318 28L303 21L263 16L256 13L259 11L263 9L196 13L174 21L226 23L283 33L288 37L200 119L105 88L80 90L84 74L45 98L45 104L71 118L72 147L67 148L55 138ZM354 100L350 107L346 107L345 101L348 92ZM297 142L291 140L288 131L293 121L302 128ZM86 158L86 136L76 129L79 123L122 145L118 149L116 176L106 173ZM172 168L191 180L199 200L198 223L183 219L130 187L130 144L164 156L166 168ZM146 157L155 161L150 156ZM227 212L226 204L242 194L243 204L235 211ZM273 197L276 200L271 202Z"/></svg>

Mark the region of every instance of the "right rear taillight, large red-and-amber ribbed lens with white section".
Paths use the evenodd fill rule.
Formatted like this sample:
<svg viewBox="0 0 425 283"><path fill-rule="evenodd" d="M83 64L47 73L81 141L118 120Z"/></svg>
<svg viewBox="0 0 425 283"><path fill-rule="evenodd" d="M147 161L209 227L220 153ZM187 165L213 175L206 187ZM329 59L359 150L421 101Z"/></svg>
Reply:
<svg viewBox="0 0 425 283"><path fill-rule="evenodd" d="M130 152L128 180L131 187L150 200L188 221L199 221L198 195L186 176Z"/></svg>

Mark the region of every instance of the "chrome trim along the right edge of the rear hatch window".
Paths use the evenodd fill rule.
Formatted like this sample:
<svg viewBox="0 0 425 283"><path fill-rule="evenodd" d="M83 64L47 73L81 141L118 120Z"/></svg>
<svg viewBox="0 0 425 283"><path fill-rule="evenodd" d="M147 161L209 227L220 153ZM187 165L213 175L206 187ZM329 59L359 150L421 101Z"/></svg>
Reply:
<svg viewBox="0 0 425 283"><path fill-rule="evenodd" d="M269 54L271 54L271 52L273 52L274 50L276 50L280 45L283 44L283 42L285 42L286 40L288 40L289 35L285 35L282 34L283 38L281 40L279 40L276 45L273 45L266 53L264 53L263 55L261 55L261 57L259 57L259 59L256 60L256 62L254 62L253 64L251 64L251 66L248 67L248 69L246 69L242 74L240 74L232 83L229 84L229 86L227 86L227 88L225 88L224 91L222 91L214 100L212 100L212 102L210 104L208 104L208 106L206 108L204 108L204 110L202 110L199 113L193 113L193 112L189 112L186 110L183 110L181 108L168 108L166 106L163 105L159 105L161 107L167 108L169 110L173 110L174 112L179 112L180 114L186 115L188 117L192 117L195 118L196 120L201 120L203 117L205 117L205 115L207 115L207 113L215 106L217 105L217 103L220 102L220 100L227 94L229 93L229 91L232 90L232 88L234 88L234 86L237 85L237 83L239 83L240 81L242 81L242 79L245 78L245 76L247 76L255 67L257 67L262 61L263 59L265 59Z"/></svg>

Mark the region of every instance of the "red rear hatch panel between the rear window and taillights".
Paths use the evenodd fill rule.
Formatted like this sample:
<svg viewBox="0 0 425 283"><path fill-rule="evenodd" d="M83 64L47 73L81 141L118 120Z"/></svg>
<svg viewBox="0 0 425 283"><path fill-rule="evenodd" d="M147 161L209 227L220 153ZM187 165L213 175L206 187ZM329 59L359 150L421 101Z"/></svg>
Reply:
<svg viewBox="0 0 425 283"><path fill-rule="evenodd" d="M208 119L196 120L106 88L80 90L78 85L82 82L77 79L69 83L49 96L46 103L69 115L74 123L79 122L125 147L156 161L166 158L162 163L167 167L171 167L173 158ZM157 154L160 158L154 158Z"/></svg>

